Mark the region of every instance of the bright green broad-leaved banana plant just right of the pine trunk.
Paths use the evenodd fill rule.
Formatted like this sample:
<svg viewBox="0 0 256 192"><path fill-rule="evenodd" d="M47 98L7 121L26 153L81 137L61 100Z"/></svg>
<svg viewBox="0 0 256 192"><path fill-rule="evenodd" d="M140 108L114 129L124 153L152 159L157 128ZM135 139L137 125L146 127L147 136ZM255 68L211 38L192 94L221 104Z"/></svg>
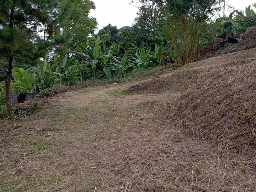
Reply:
<svg viewBox="0 0 256 192"><path fill-rule="evenodd" d="M33 93L36 89L36 75L32 75L28 70L14 67L12 76L14 80L28 92Z"/></svg>

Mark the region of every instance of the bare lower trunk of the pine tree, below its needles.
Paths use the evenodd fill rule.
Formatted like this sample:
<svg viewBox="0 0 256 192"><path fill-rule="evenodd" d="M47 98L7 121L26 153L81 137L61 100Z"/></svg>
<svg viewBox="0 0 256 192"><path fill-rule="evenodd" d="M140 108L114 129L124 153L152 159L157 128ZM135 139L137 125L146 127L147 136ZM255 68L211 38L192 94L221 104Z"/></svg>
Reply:
<svg viewBox="0 0 256 192"><path fill-rule="evenodd" d="M5 92L6 92L6 105L7 109L11 109L11 71L12 71L13 56L8 57L8 70L7 78L5 81Z"/></svg>

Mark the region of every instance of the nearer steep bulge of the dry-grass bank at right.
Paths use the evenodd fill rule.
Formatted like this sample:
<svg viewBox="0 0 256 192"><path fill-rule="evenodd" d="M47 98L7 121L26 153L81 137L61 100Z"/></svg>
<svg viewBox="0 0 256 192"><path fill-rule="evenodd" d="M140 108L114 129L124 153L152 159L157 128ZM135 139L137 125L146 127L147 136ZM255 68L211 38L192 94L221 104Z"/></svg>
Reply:
<svg viewBox="0 0 256 192"><path fill-rule="evenodd" d="M203 71L182 96L160 104L162 115L188 133L225 147L255 147L255 69L253 61Z"/></svg>

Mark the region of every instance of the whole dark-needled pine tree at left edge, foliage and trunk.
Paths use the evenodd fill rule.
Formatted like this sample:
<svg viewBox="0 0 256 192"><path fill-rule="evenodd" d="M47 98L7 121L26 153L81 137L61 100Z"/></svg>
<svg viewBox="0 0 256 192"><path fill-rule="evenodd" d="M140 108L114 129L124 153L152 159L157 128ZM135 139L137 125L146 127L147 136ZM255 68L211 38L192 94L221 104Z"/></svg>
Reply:
<svg viewBox="0 0 256 192"><path fill-rule="evenodd" d="M21 55L33 58L37 52L38 26L48 26L53 35L54 8L59 0L1 0L0 1L0 54L8 58L5 83L6 104L11 109L11 74L13 58ZM38 57L40 55L37 55Z"/></svg>

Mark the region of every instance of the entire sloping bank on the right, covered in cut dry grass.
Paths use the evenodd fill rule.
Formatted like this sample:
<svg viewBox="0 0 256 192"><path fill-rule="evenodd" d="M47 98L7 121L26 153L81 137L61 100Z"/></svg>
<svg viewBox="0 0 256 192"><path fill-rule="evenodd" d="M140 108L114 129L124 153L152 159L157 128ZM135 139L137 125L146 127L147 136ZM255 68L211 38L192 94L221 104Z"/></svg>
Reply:
<svg viewBox="0 0 256 192"><path fill-rule="evenodd" d="M256 150L256 50L246 52L191 63L172 73L166 81L176 82L165 83L168 90L182 85L183 94L150 108L171 126L222 150Z"/></svg>

